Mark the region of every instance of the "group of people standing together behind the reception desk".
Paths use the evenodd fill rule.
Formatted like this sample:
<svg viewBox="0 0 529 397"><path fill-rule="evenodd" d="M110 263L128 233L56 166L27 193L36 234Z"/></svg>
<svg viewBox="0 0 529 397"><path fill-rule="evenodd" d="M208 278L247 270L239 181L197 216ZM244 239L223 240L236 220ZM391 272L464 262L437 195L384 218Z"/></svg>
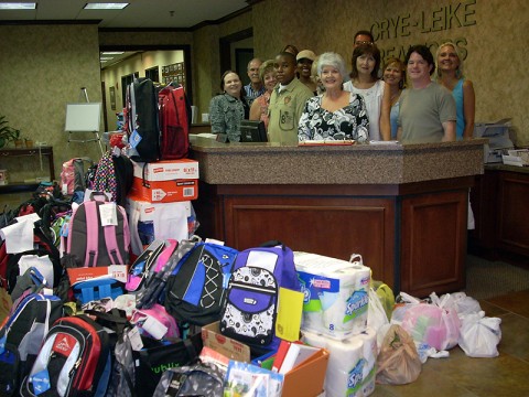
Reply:
<svg viewBox="0 0 529 397"><path fill-rule="evenodd" d="M369 31L354 36L350 73L334 52L315 55L289 44L274 60L248 63L250 83L224 73L223 94L209 105L213 133L239 141L240 120L264 122L269 142L304 140L399 140L436 142L471 138L475 95L463 75L455 44L433 57L413 45L406 58L380 51Z"/></svg>

